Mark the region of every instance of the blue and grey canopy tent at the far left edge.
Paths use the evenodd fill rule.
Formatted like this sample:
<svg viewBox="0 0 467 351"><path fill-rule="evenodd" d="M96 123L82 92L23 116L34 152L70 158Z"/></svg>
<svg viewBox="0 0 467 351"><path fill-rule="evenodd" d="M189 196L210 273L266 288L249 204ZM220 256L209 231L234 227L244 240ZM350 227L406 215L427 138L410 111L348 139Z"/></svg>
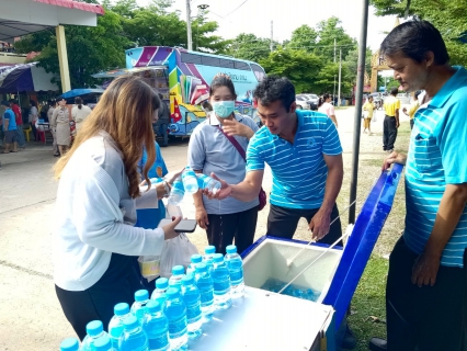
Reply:
<svg viewBox="0 0 467 351"><path fill-rule="evenodd" d="M50 82L54 77L37 63L0 67L0 93L32 91L58 91L58 86Z"/></svg>

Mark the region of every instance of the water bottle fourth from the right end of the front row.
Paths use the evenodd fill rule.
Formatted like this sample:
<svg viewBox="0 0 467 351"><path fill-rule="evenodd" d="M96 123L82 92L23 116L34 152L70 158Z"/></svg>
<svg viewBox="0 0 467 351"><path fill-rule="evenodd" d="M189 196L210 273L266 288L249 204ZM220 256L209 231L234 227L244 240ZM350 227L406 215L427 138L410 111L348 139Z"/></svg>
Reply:
<svg viewBox="0 0 467 351"><path fill-rule="evenodd" d="M200 338L203 330L203 314L201 312L200 290L195 285L193 274L187 274L182 279L182 296L186 306L186 322L189 329L189 338L195 340Z"/></svg>

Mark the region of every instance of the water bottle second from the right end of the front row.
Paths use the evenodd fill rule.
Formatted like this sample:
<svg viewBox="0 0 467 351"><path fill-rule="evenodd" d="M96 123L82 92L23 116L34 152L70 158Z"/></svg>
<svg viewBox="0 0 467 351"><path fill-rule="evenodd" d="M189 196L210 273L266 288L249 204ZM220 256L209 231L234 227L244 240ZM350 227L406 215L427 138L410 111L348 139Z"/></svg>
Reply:
<svg viewBox="0 0 467 351"><path fill-rule="evenodd" d="M227 309L232 305L230 298L230 274L221 253L214 254L213 268L214 306Z"/></svg>

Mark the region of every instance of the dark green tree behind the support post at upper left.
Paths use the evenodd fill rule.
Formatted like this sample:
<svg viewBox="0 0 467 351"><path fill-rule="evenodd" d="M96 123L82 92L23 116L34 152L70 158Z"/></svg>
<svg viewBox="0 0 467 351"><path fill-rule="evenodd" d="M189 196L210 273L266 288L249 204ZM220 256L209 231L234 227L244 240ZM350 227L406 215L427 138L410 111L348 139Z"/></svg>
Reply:
<svg viewBox="0 0 467 351"><path fill-rule="evenodd" d="M87 27L66 25L68 64L72 88L94 87L98 80L91 77L100 70L124 67L124 49L130 42L122 35L122 19L106 11L98 19L98 26ZM59 72L57 41L53 31L44 31L24 36L15 42L18 53L39 52L34 58L47 72ZM54 82L60 84L59 79Z"/></svg>

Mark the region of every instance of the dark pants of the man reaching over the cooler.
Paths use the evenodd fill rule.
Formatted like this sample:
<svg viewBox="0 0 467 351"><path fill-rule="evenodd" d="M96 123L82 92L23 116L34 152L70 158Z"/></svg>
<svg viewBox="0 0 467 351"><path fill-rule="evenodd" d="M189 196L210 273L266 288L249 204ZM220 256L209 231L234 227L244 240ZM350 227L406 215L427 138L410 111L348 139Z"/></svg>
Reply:
<svg viewBox="0 0 467 351"><path fill-rule="evenodd" d="M267 216L267 235L275 237L292 239L297 229L298 220L305 217L308 223L316 215L319 208L297 210L285 208L271 204L270 214ZM331 212L331 222L339 217L338 205L334 204ZM335 220L329 228L329 233L318 242L334 244L342 236L341 219ZM338 245L342 246L342 241Z"/></svg>

